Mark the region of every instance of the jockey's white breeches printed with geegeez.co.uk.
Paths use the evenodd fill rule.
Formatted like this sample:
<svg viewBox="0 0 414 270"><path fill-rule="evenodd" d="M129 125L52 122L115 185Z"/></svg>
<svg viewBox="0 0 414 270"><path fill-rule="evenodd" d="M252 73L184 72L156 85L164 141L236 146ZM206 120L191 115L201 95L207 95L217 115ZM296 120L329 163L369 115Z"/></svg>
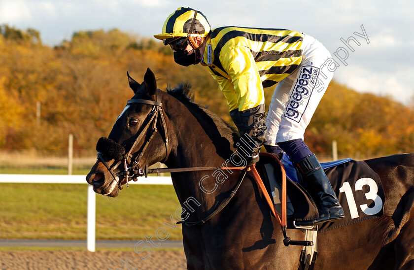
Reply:
<svg viewBox="0 0 414 270"><path fill-rule="evenodd" d="M301 64L277 84L273 93L266 118L266 144L304 139L305 129L332 79L333 72L323 67L331 54L322 43L305 35L303 46Z"/></svg>

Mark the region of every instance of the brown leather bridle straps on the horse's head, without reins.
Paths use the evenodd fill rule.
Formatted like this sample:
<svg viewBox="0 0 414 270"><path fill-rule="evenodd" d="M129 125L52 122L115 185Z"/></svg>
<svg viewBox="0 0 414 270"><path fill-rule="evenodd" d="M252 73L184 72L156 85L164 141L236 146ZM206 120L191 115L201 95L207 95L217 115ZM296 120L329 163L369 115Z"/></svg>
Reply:
<svg viewBox="0 0 414 270"><path fill-rule="evenodd" d="M142 168L139 165L139 161L141 160L146 148L148 147L148 144L151 142L154 135L157 133L158 116L161 119L161 126L164 130L164 139L165 139L164 142L165 142L165 148L166 148L166 156L165 156L163 162L166 162L167 158L169 156L170 145L169 145L169 139L168 139L167 124L166 124L163 109L162 109L161 90L160 89L156 90L156 95L157 95L156 101L149 101L149 100L142 100L142 99L131 99L131 100L127 101L127 105L128 104L133 104L133 103L152 105L151 112L147 115L147 117L145 118L143 124L141 125L141 127L140 127L140 129L137 133L138 136L135 139L134 143L132 144L132 146L131 146L130 150L128 151L128 153L123 155L122 158L120 160L118 160L118 162L114 166L109 166L106 163L106 161L104 160L104 156L102 154L102 151L98 150L99 151L98 152L98 159L101 160L101 162L104 164L106 169L108 169L108 171L111 173L111 175L113 176L113 180L118 183L118 186L119 186L120 189L122 189L122 185L120 184L118 175L116 175L116 173L114 172L113 169L117 168L121 163L124 164L124 171L122 172L122 175L127 180L127 187L129 186L128 185L129 180L137 181L138 177L143 175ZM148 137L148 139L145 139L144 136L146 135L146 133L147 133L147 131L150 128L151 125L152 125L152 127L151 127L151 132L149 134L149 137ZM143 141L143 144L141 146L141 151L134 158L133 157L134 149L138 146L138 144L142 141L142 139L144 139L144 141ZM112 143L117 144L116 142L112 142ZM118 146L120 146L120 145L118 144Z"/></svg>

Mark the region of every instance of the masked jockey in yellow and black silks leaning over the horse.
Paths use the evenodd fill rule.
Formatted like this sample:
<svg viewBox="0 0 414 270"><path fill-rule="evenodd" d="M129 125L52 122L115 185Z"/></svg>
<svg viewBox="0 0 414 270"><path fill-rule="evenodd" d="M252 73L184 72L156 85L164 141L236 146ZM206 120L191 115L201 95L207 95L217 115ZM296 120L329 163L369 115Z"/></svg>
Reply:
<svg viewBox="0 0 414 270"><path fill-rule="evenodd" d="M171 46L177 64L200 63L219 83L241 140L251 142L249 150L236 144L248 166L259 160L265 143L267 152L284 151L290 157L319 209L318 219L297 225L345 217L319 161L303 141L333 76L321 71L331 55L319 41L283 29L220 27L211 31L201 12L184 7L174 11L162 34L154 37ZM266 117L263 88L275 85Z"/></svg>

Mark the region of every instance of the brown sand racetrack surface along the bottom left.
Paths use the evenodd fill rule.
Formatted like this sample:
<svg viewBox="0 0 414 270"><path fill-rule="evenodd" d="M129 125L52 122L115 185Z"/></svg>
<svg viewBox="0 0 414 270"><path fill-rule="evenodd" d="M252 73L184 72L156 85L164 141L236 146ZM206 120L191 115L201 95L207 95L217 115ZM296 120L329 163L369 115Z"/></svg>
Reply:
<svg viewBox="0 0 414 270"><path fill-rule="evenodd" d="M131 251L0 251L1 270L183 270L183 250L153 250L142 260ZM124 266L121 264L124 262ZM128 261L128 262L127 262Z"/></svg>

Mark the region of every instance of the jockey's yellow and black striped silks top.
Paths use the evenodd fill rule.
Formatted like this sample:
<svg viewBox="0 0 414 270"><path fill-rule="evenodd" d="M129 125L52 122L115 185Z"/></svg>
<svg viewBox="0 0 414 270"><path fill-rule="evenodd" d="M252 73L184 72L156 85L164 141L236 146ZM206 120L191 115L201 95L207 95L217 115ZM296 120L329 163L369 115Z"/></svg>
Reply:
<svg viewBox="0 0 414 270"><path fill-rule="evenodd" d="M302 61L304 34L284 29L222 27L206 41L204 61L229 110L264 104L263 88L276 85Z"/></svg>

